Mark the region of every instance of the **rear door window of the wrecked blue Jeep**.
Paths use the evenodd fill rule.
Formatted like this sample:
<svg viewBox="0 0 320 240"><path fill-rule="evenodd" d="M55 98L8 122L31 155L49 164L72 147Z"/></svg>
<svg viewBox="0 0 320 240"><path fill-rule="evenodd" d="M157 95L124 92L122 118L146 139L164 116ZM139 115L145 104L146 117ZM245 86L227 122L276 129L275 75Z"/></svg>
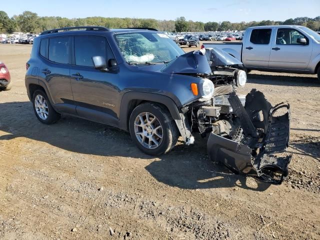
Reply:
<svg viewBox="0 0 320 240"><path fill-rule="evenodd" d="M57 63L69 63L69 37L49 39L49 60Z"/></svg>

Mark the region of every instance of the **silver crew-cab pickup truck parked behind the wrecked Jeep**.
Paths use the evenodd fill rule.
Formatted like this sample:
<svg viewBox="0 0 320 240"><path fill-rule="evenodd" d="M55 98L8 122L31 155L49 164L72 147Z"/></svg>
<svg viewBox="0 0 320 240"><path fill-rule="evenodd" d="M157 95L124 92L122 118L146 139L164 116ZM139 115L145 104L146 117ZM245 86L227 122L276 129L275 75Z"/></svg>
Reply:
<svg viewBox="0 0 320 240"><path fill-rule="evenodd" d="M320 35L305 26L249 27L242 42L203 43L204 47L226 51L248 70L317 73L320 80Z"/></svg>

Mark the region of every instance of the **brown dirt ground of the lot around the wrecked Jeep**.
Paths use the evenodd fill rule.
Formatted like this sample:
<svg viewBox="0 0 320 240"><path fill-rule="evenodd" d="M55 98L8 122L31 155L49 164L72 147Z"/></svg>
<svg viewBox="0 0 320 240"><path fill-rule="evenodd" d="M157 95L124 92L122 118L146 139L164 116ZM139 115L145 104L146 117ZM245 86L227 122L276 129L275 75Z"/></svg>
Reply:
<svg viewBox="0 0 320 240"><path fill-rule="evenodd" d="M24 86L30 49L0 44L13 82L0 92L0 239L320 239L315 75L252 71L240 89L290 103L293 155L275 186L210 162L206 139L153 158L113 127L41 124Z"/></svg>

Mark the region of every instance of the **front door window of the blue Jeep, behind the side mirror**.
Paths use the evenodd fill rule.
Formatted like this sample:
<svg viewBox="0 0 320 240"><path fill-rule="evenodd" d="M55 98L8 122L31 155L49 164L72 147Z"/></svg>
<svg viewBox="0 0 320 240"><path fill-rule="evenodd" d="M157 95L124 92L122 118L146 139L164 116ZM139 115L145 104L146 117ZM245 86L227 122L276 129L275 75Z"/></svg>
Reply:
<svg viewBox="0 0 320 240"><path fill-rule="evenodd" d="M106 41L102 36L74 37L75 64L93 67L92 56L106 57Z"/></svg>

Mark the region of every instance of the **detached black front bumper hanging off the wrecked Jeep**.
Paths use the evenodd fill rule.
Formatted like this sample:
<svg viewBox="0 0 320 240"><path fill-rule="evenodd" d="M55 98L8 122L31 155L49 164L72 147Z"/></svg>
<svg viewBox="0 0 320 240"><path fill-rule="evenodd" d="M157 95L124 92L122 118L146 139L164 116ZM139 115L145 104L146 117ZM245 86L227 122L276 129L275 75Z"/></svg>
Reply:
<svg viewBox="0 0 320 240"><path fill-rule="evenodd" d="M223 163L234 173L281 184L288 175L291 159L285 153L290 129L289 104L271 106L263 93L255 89L246 95L244 107L235 93L228 100L239 124L231 139L210 133L209 158Z"/></svg>

